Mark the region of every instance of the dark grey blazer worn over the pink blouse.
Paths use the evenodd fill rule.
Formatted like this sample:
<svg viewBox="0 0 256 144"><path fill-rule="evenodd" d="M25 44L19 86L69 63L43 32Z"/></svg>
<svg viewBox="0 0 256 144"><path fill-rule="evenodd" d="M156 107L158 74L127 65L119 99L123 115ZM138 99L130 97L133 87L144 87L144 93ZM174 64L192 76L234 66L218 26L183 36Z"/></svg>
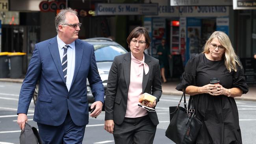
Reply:
<svg viewBox="0 0 256 144"><path fill-rule="evenodd" d="M143 72L142 90L156 96L156 103L162 94L161 73L158 59L145 54L148 74ZM116 56L109 71L105 100L105 120L122 124L126 114L128 90L130 85L131 52ZM148 112L154 125L159 124L156 112Z"/></svg>

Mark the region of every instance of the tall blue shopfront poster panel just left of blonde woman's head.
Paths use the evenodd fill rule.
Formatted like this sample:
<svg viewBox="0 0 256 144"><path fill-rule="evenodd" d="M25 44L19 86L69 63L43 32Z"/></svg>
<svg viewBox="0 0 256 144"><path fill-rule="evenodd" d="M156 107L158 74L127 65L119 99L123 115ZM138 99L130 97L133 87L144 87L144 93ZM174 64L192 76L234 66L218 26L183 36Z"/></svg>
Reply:
<svg viewBox="0 0 256 144"><path fill-rule="evenodd" d="M201 19L187 18L186 61L189 57L201 52L201 24Z"/></svg>

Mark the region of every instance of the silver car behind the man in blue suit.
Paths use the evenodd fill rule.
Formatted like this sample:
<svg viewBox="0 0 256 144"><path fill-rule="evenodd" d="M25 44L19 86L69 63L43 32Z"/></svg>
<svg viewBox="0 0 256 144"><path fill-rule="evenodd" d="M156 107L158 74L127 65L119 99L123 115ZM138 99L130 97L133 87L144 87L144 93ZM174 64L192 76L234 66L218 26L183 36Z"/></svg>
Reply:
<svg viewBox="0 0 256 144"><path fill-rule="evenodd" d="M90 44L93 44L95 48L95 59L98 66L98 72L100 74L100 78L102 79L104 85L104 95L106 96L106 89L108 83L108 74L114 57L117 55L125 54L127 51L117 42L113 41L109 38L104 37L95 37L91 39L84 39ZM35 87L35 92L33 94L34 103L36 103L38 96L39 85L37 84ZM91 88L89 82L87 80L87 98L89 108L91 104L94 102L93 94L91 93Z"/></svg>

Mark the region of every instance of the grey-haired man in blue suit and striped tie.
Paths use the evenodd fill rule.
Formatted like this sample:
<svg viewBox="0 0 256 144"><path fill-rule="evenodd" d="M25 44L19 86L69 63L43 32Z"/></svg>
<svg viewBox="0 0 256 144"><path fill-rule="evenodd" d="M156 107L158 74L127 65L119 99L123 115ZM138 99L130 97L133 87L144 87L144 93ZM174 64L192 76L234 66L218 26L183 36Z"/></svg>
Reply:
<svg viewBox="0 0 256 144"><path fill-rule="evenodd" d="M67 8L55 18L58 35L35 44L35 50L22 83L18 105L18 121L23 129L37 80L38 100L33 120L37 122L44 144L82 144L88 124L86 79L96 107L96 117L104 103L104 87L98 74L94 47L78 39L77 12Z"/></svg>

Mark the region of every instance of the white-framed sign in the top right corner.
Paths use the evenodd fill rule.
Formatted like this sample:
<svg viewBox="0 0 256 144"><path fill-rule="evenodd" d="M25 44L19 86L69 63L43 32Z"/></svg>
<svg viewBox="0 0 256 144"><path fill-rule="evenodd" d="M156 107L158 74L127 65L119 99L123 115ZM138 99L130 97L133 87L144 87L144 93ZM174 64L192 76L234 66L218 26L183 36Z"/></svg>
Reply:
<svg viewBox="0 0 256 144"><path fill-rule="evenodd" d="M233 0L233 9L256 9L256 0Z"/></svg>

